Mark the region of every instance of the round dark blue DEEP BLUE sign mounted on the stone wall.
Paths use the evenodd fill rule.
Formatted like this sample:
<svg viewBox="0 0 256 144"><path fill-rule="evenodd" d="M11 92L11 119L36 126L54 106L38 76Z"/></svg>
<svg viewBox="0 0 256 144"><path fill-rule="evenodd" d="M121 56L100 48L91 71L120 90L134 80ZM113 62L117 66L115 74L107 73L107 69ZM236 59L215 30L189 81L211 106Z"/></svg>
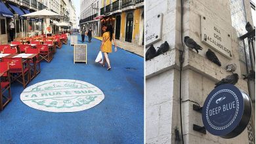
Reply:
<svg viewBox="0 0 256 144"><path fill-rule="evenodd" d="M232 84L217 86L203 104L203 126L209 133L223 138L241 134L250 118L251 99Z"/></svg>

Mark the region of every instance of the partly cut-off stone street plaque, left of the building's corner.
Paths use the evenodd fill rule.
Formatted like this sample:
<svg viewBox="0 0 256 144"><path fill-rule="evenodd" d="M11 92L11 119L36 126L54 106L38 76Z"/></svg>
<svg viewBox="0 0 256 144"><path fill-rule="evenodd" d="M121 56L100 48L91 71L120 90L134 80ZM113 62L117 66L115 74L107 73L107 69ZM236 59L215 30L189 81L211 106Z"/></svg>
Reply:
<svg viewBox="0 0 256 144"><path fill-rule="evenodd" d="M163 14L158 14L149 20L146 20L145 41L146 46L161 40L161 25Z"/></svg>

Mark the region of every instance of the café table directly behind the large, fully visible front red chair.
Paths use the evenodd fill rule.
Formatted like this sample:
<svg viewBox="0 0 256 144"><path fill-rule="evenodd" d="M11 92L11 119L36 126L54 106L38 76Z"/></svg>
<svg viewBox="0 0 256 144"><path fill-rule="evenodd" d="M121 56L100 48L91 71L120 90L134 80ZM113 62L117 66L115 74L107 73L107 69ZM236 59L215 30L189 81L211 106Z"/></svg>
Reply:
<svg viewBox="0 0 256 144"><path fill-rule="evenodd" d="M29 67L30 71L30 81L37 75L37 67L36 67L36 56L37 54L10 54L9 56L5 56L5 58L22 58L25 60L33 60L33 65L30 65L32 69ZM33 71L33 75L31 75L31 71Z"/></svg>

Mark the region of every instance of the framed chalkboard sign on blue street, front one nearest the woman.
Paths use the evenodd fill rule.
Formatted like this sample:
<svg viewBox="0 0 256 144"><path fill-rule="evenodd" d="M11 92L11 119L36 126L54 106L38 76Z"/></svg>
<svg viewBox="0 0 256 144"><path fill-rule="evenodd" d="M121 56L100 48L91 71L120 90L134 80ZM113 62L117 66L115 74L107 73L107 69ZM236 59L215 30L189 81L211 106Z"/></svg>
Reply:
<svg viewBox="0 0 256 144"><path fill-rule="evenodd" d="M74 63L75 62L87 63L87 45L74 45Z"/></svg>

